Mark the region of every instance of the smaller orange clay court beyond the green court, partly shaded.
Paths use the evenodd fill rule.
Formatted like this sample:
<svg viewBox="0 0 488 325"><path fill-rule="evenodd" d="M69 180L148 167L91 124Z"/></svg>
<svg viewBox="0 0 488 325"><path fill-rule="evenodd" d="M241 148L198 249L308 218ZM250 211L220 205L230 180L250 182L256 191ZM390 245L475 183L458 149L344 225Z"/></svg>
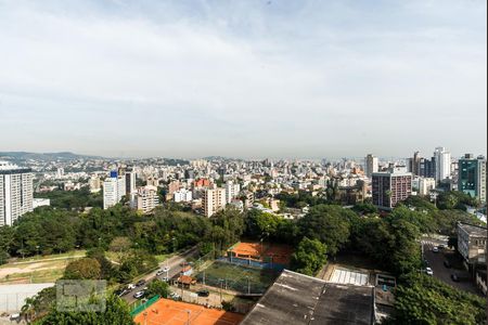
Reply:
<svg viewBox="0 0 488 325"><path fill-rule="evenodd" d="M293 253L292 247L269 243L237 243L229 249L233 257L264 261L271 258L274 263L288 265Z"/></svg>

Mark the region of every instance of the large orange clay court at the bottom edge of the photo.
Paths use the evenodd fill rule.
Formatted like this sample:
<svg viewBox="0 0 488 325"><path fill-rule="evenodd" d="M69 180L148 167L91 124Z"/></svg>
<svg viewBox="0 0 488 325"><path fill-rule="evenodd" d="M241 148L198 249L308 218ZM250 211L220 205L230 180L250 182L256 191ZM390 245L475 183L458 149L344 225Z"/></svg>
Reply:
<svg viewBox="0 0 488 325"><path fill-rule="evenodd" d="M190 323L189 312L190 311ZM136 316L140 325L237 325L244 315L207 309L202 306L159 299L156 303Z"/></svg>

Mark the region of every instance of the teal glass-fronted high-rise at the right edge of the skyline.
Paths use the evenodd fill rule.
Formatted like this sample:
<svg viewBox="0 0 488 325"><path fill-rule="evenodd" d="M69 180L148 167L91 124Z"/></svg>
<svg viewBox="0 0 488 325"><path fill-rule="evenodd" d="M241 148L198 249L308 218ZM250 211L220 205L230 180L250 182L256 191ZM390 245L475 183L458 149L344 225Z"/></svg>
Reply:
<svg viewBox="0 0 488 325"><path fill-rule="evenodd" d="M458 190L486 203L486 159L472 154L459 159Z"/></svg>

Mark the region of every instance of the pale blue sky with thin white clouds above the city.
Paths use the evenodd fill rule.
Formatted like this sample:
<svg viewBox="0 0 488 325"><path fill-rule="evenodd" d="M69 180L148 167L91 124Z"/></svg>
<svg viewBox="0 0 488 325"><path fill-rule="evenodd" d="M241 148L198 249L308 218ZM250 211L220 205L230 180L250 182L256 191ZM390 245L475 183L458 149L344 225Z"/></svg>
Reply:
<svg viewBox="0 0 488 325"><path fill-rule="evenodd" d="M486 0L0 0L0 151L487 147Z"/></svg>

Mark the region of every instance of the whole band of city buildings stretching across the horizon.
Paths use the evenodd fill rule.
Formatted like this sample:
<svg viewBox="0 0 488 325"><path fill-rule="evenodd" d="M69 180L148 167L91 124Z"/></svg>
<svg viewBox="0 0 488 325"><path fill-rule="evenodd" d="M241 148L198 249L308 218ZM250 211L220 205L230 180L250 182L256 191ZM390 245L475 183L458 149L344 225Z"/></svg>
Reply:
<svg viewBox="0 0 488 325"><path fill-rule="evenodd" d="M0 167L0 182L3 182L0 224L11 224L34 207L47 205L47 202L35 202L33 192L82 187L89 187L91 193L103 191L105 209L124 202L149 213L162 200L172 200L205 217L214 216L227 205L277 213L280 210L277 195L297 191L319 197L332 196L344 205L371 198L384 210L393 209L410 195L435 198L438 191L449 190L459 190L486 203L486 158L466 154L453 159L445 147L436 147L429 157L415 152L412 158L398 160L380 159L370 154L364 161L259 161L217 157L192 161L94 158L26 162L28 168L7 162ZM38 180L35 186L34 179ZM15 187L18 182L22 191ZM20 198L21 192L16 191L22 192ZM286 218L299 218L304 211L288 209L281 213Z"/></svg>

